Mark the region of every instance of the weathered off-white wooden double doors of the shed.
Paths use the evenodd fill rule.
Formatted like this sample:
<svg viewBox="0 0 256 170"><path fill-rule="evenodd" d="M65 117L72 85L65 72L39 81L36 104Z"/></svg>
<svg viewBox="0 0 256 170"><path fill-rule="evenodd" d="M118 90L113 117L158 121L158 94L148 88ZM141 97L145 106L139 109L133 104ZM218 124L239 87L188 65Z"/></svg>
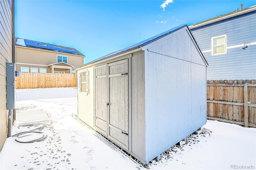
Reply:
<svg viewBox="0 0 256 170"><path fill-rule="evenodd" d="M128 149L128 59L94 68L95 127Z"/></svg>

